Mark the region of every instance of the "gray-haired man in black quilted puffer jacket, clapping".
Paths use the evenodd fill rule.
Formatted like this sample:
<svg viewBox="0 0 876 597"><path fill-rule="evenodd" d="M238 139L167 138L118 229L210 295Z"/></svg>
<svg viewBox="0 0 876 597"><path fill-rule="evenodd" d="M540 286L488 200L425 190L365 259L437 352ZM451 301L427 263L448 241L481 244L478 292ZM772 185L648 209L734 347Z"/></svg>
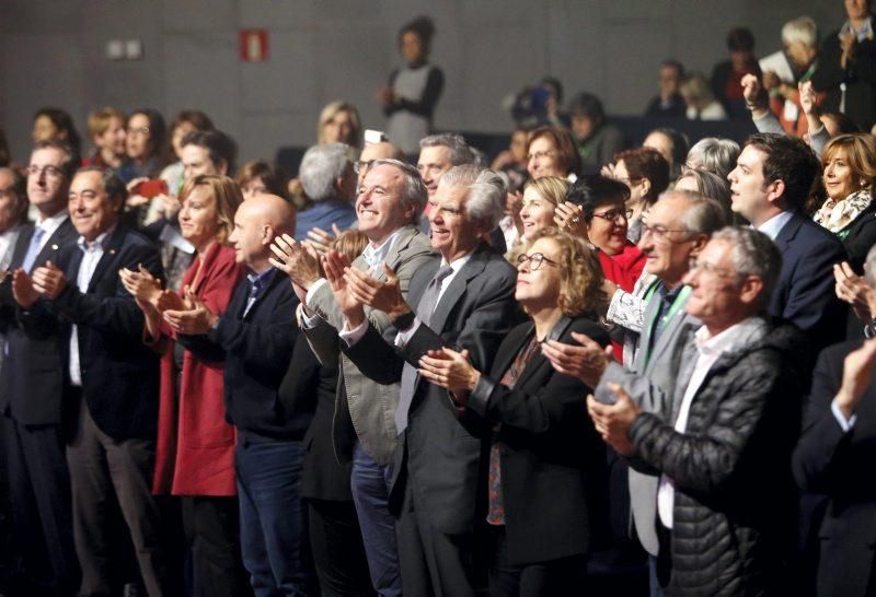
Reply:
<svg viewBox="0 0 876 597"><path fill-rule="evenodd" d="M781 264L763 233L714 234L683 279L685 309L702 326L679 347L671 396L612 365L587 398L603 440L659 475L657 572L668 593L769 594L787 583L802 335L762 315ZM644 402L668 408L645 412Z"/></svg>

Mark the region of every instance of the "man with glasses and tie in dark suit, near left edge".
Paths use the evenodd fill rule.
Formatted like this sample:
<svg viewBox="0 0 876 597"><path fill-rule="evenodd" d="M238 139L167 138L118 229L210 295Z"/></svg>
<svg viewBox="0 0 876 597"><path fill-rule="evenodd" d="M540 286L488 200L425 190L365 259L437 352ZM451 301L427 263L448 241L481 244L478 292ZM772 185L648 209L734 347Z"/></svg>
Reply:
<svg viewBox="0 0 876 597"><path fill-rule="evenodd" d="M36 144L27 168L27 199L36 226L19 235L9 271L31 272L57 261L59 248L76 239L67 213L67 189L79 156L66 143ZM5 269L5 268L4 268ZM58 333L28 338L15 315L12 276L0 284L4 330L0 371L5 458L15 551L16 583L48 593L76 589L79 566L70 517L70 478L61 433L62 364ZM25 588L25 592L27 589Z"/></svg>

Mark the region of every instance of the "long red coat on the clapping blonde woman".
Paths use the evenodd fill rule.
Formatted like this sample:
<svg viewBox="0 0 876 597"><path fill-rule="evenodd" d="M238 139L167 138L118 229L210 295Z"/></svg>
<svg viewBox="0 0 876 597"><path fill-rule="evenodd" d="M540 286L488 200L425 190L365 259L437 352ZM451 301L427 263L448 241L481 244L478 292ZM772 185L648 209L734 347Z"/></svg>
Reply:
<svg viewBox="0 0 876 597"><path fill-rule="evenodd" d="M199 265L200 257L196 257L183 277L182 288L192 283ZM195 294L208 309L221 315L242 274L243 269L234 261L234 249L216 244L207 251ZM224 366L201 361L185 351L177 402L173 332L163 324L161 331L161 400L152 492L235 495L237 431L226 422Z"/></svg>

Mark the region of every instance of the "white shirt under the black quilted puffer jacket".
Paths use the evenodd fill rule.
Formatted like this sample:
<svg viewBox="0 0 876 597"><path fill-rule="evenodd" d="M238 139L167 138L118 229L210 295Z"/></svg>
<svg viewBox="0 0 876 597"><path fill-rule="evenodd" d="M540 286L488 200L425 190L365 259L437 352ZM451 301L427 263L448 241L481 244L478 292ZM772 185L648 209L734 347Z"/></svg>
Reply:
<svg viewBox="0 0 876 597"><path fill-rule="evenodd" d="M691 405L700 387L703 385L705 376L712 368L712 365L715 364L723 353L733 351L740 339L744 340L748 338L749 330L752 326L759 325L759 319L749 317L714 337L708 333L708 329L706 329L705 326L696 330L696 333L694 333L694 342L696 343L700 355L696 358L691 379L681 399L681 407L679 408L678 419L676 419L675 424L677 432L683 434L688 429L688 417L691 411ZM660 522L666 528L672 528L672 507L675 506L675 482L666 475L660 475L660 485L657 489L657 515L660 517Z"/></svg>

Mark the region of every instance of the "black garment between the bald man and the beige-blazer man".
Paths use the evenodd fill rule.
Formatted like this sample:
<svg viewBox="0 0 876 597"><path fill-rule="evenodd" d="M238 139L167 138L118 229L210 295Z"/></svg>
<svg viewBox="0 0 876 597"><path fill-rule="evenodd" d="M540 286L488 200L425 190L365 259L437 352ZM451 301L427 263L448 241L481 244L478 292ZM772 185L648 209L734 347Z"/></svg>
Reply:
<svg viewBox="0 0 876 597"><path fill-rule="evenodd" d="M289 368L280 384L279 400L286 410L295 410L299 403L310 405L315 401L313 420L303 438L302 497L345 502L353 500L349 489L353 464L338 461L332 442L337 388L337 367L322 366L310 350L307 337L300 333L295 342Z"/></svg>

